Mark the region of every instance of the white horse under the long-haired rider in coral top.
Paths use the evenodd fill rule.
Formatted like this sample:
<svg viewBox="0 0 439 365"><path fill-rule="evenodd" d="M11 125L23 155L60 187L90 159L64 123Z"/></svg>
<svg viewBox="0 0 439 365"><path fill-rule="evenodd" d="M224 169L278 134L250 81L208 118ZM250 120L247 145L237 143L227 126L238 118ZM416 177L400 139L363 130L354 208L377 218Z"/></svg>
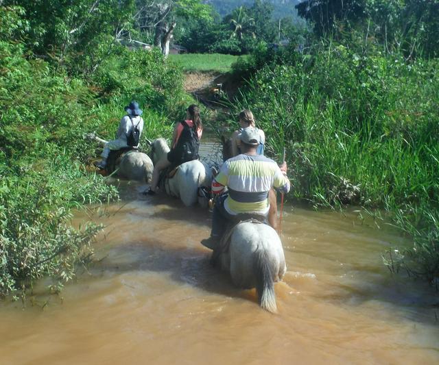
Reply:
<svg viewBox="0 0 439 365"><path fill-rule="evenodd" d="M151 144L152 162L156 164L169 152L165 138L158 138ZM211 186L212 171L199 160L185 162L178 166L173 177L167 177L161 187L171 197L180 198L189 207L198 201L198 188Z"/></svg>

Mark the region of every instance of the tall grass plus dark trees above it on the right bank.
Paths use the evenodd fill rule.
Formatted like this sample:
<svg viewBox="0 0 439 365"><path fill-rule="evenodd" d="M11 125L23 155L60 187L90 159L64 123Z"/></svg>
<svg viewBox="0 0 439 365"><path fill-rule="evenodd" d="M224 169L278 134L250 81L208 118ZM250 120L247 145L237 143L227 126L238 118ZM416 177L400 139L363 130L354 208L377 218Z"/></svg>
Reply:
<svg viewBox="0 0 439 365"><path fill-rule="evenodd" d="M299 14L314 36L235 64L249 81L233 107L256 114L273 155L287 148L296 198L384 208L414 238L385 263L437 284L439 46L426 29L438 25L439 2L306 3Z"/></svg>

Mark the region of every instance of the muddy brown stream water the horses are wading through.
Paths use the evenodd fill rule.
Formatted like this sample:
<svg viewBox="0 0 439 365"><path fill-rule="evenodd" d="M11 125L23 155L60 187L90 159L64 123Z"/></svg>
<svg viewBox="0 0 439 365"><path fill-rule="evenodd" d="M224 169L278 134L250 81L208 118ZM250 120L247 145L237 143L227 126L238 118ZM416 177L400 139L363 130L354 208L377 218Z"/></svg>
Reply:
<svg viewBox="0 0 439 365"><path fill-rule="evenodd" d="M273 315L209 266L208 212L144 188L75 214L106 228L59 296L0 303L0 364L439 364L437 292L381 261L396 231L286 205Z"/></svg>

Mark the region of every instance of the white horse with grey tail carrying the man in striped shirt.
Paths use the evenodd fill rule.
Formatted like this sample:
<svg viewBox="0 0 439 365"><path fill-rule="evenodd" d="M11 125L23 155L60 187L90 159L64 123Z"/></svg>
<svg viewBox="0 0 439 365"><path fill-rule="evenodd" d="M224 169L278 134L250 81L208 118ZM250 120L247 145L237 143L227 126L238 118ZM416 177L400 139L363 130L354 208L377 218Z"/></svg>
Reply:
<svg viewBox="0 0 439 365"><path fill-rule="evenodd" d="M215 262L230 273L235 286L256 288L259 305L276 313L274 282L287 270L281 238L269 225L250 221L238 223L227 237L226 249L213 253Z"/></svg>

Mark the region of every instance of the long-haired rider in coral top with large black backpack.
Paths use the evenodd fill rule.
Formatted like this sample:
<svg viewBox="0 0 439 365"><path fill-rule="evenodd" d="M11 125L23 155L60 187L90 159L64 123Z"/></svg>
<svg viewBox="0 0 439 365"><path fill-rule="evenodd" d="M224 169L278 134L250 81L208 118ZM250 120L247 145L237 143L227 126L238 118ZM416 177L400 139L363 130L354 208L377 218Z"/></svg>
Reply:
<svg viewBox="0 0 439 365"><path fill-rule="evenodd" d="M203 132L203 125L200 118L200 110L197 105L189 105L186 110L186 120L174 127L172 136L172 147L165 158L154 165L152 181L147 194L153 195L157 192L160 172L168 166L178 166L184 162L198 160L198 147Z"/></svg>

